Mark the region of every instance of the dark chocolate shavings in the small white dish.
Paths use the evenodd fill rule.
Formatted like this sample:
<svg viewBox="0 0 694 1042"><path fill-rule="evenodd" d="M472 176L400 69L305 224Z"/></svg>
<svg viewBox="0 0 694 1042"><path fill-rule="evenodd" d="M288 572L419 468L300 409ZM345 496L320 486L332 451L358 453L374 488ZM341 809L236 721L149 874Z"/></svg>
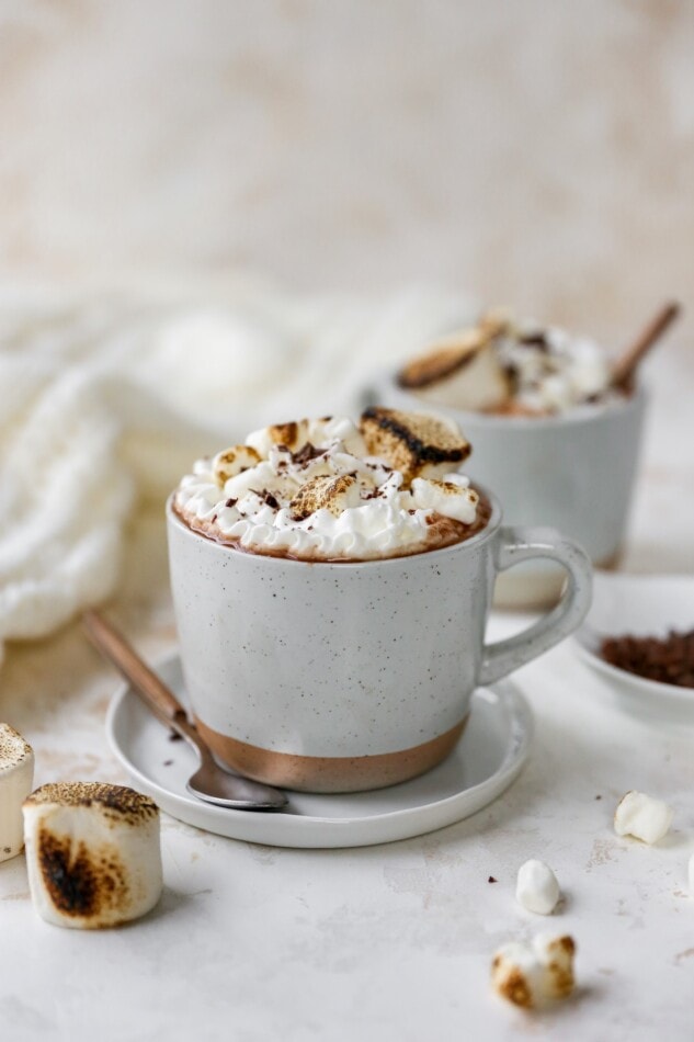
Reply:
<svg viewBox="0 0 694 1042"><path fill-rule="evenodd" d="M694 688L694 630L667 637L605 637L600 654L611 666L680 688Z"/></svg>

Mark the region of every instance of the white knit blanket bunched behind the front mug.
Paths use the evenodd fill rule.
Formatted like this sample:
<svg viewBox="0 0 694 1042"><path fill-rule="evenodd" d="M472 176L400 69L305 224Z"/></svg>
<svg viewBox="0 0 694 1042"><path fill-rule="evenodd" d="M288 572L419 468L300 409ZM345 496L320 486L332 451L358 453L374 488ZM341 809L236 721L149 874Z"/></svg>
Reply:
<svg viewBox="0 0 694 1042"><path fill-rule="evenodd" d="M469 315L432 291L2 291L0 658L113 592L128 518L163 510L196 456L268 422L354 412L378 370Z"/></svg>

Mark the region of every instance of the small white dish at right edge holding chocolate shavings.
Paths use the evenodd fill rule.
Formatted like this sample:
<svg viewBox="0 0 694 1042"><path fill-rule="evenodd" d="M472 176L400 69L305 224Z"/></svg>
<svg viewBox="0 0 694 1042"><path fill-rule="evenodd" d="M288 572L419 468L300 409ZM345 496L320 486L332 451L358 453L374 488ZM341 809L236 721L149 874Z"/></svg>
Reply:
<svg viewBox="0 0 694 1042"><path fill-rule="evenodd" d="M612 701L660 723L694 724L694 689L646 680L600 656L604 637L664 637L694 627L694 577L596 573L593 603L572 641L580 657L610 682Z"/></svg>

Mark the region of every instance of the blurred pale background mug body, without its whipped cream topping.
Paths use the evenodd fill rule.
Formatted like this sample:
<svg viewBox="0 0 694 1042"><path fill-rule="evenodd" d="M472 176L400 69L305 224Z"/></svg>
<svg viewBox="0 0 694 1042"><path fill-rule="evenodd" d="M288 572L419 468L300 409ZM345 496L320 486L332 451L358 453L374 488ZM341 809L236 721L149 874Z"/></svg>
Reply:
<svg viewBox="0 0 694 1042"><path fill-rule="evenodd" d="M621 401L561 416L509 417L432 406L387 373L366 395L369 403L426 410L453 420L473 445L465 473L503 494L513 524L551 524L578 540L596 568L618 564L636 479L647 394L642 386ZM564 573L535 560L497 584L499 608L554 603Z"/></svg>

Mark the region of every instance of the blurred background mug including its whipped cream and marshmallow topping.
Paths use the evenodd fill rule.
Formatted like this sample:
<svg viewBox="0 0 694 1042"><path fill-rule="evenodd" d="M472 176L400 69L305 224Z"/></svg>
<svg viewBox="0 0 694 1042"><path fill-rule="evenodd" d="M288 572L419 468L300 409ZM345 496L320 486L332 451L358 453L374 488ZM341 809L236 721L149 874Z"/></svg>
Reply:
<svg viewBox="0 0 694 1042"><path fill-rule="evenodd" d="M428 408L475 445L466 471L503 497L513 524L551 524L593 565L618 565L636 480L647 395L610 388L594 341L490 315L384 373L369 400ZM557 600L564 573L533 562L500 576L500 608Z"/></svg>

